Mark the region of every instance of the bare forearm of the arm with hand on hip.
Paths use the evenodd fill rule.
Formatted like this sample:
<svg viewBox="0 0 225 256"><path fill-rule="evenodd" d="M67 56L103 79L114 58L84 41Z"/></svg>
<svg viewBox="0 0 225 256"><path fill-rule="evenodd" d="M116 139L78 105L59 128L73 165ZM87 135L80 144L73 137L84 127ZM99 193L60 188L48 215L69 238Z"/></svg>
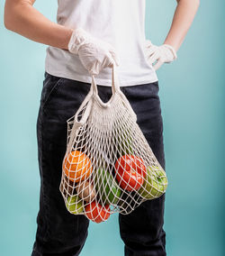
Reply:
<svg viewBox="0 0 225 256"><path fill-rule="evenodd" d="M174 19L164 42L173 46L175 50L178 50L184 41L199 6L199 0L179 0L177 2Z"/></svg>

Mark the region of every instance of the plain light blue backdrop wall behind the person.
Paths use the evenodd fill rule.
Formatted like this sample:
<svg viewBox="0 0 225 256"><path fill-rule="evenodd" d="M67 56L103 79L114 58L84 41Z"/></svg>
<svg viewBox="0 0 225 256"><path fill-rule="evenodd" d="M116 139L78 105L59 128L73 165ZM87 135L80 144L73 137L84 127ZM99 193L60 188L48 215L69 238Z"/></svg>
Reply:
<svg viewBox="0 0 225 256"><path fill-rule="evenodd" d="M0 255L26 256L39 207L35 129L46 46L5 30L3 0L0 6ZM57 1L38 0L35 7L55 21ZM163 42L174 9L175 1L148 1L146 32L154 43ZM224 10L222 0L202 1L178 59L157 72L170 182L165 215L169 256L225 255ZM117 215L90 224L81 256L106 254L123 255Z"/></svg>

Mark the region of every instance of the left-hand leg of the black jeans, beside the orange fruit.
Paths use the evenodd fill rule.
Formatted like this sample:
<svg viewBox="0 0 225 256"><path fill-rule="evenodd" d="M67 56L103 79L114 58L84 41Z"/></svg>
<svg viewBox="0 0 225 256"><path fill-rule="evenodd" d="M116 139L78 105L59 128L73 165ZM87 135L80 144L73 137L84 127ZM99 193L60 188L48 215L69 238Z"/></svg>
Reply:
<svg viewBox="0 0 225 256"><path fill-rule="evenodd" d="M34 250L41 255L75 255L85 242L89 221L85 215L67 212L59 184L67 148L67 119L76 113L90 85L45 75L37 121L40 211Z"/></svg>

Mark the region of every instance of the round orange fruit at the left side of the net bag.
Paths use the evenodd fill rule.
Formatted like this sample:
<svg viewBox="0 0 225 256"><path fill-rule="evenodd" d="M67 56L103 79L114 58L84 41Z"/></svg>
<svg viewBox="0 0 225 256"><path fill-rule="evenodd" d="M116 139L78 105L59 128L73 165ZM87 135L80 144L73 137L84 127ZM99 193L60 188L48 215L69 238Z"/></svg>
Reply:
<svg viewBox="0 0 225 256"><path fill-rule="evenodd" d="M71 181L79 182L92 172L91 160L84 152L71 151L63 162L63 170Z"/></svg>

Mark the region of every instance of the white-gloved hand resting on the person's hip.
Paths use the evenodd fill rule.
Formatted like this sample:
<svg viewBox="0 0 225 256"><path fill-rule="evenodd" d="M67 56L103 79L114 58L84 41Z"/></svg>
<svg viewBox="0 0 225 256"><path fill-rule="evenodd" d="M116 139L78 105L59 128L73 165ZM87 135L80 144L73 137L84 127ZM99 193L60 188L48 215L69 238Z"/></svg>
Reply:
<svg viewBox="0 0 225 256"><path fill-rule="evenodd" d="M151 43L151 41L145 41L145 53L149 64L153 65L155 70L159 69L163 63L170 63L177 59L175 49L168 44L157 46Z"/></svg>

